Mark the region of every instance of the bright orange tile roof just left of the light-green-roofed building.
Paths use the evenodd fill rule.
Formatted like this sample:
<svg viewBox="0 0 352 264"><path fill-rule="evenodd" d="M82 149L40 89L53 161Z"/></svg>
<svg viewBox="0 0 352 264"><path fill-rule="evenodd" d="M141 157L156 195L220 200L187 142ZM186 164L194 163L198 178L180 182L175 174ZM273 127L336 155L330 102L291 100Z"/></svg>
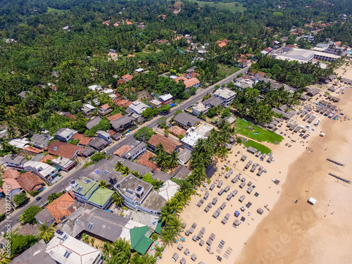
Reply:
<svg viewBox="0 0 352 264"><path fill-rule="evenodd" d="M70 191L70 194L74 196L72 191ZM73 208L73 206L76 204L76 201L70 196L70 194L63 194L45 207L46 210L49 210L49 213L53 215L56 222L60 222L60 219L63 216L68 217L68 215L75 212L76 208ZM79 206L77 205L77 207Z"/></svg>

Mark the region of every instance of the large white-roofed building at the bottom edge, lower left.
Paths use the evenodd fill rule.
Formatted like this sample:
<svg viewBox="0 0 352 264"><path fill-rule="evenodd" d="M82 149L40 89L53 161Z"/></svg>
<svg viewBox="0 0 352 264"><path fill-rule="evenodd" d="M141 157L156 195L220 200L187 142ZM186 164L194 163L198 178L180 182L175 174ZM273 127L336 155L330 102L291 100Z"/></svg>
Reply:
<svg viewBox="0 0 352 264"><path fill-rule="evenodd" d="M101 264L101 252L84 242L56 230L54 238L46 246L49 253L60 264Z"/></svg>

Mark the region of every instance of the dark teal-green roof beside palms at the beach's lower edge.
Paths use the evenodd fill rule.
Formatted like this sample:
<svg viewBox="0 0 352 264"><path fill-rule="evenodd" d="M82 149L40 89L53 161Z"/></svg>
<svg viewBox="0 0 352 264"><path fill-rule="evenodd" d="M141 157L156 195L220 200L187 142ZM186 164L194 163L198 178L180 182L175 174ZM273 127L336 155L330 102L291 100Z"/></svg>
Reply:
<svg viewBox="0 0 352 264"><path fill-rule="evenodd" d="M147 226L132 228L130 230L131 249L145 254L153 243L153 240L150 238L151 234L153 234L153 231Z"/></svg>

